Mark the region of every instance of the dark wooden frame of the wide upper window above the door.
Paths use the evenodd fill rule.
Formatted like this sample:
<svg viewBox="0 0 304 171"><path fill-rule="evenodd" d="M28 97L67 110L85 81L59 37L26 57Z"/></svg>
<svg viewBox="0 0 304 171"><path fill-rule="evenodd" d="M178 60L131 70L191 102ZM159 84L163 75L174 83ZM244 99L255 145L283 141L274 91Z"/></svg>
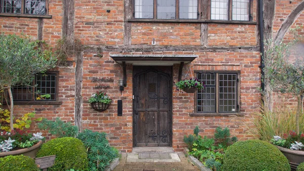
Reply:
<svg viewBox="0 0 304 171"><path fill-rule="evenodd" d="M249 20L232 20L232 1L229 0L229 20L211 20L211 0L198 0L198 18L197 19L180 19L179 18L179 1L176 0L175 19L157 19L157 0L154 1L153 18L135 18L135 0L131 1L131 18L129 21L143 21L143 22L215 22L215 23L244 23L252 24L253 21L253 0L249 0ZM207 7L203 5L207 1ZM178 8L177 8L178 7Z"/></svg>

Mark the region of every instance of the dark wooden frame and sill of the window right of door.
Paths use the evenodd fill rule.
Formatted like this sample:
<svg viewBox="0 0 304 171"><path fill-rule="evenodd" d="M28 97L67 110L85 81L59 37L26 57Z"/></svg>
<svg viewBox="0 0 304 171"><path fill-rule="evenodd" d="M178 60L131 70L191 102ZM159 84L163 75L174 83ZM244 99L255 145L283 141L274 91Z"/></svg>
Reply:
<svg viewBox="0 0 304 171"><path fill-rule="evenodd" d="M226 71L226 70L195 70L196 76L198 73L214 73L215 74L215 112L198 112L197 103L198 97L197 92L195 93L194 100L194 113L191 113L190 116L231 116L231 115L244 115L240 113L240 97L241 97L241 71ZM219 74L237 74L237 110L235 112L219 112Z"/></svg>

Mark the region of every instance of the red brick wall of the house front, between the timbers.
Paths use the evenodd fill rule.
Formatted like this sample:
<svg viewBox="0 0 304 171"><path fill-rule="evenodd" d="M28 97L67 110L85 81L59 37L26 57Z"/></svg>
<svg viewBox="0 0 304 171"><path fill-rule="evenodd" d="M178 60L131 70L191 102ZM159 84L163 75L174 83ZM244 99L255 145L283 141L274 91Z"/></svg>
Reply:
<svg viewBox="0 0 304 171"><path fill-rule="evenodd" d="M290 11L301 1L276 0L274 34L278 31ZM252 112L259 107L261 84L259 29L257 1L253 1L251 23L206 22L207 47L203 47L201 27L198 22L127 22L131 25L130 45L124 44L127 31L124 22L124 1L74 1L73 34L88 46L82 53L83 77L81 96L83 97L83 129L105 132L109 142L123 152L131 152L133 147L133 65L127 64L127 87L119 91L118 80L123 78L122 65L113 61L110 55L197 55L191 63L185 64L182 79L195 75L194 71L239 71L240 72L240 112L242 116L190 116L194 113L195 94L176 92L172 84L172 147L182 151L185 146L183 136L191 134L199 125L202 136L212 137L217 126L228 126L231 135L244 140L251 138L246 130L253 127ZM107 11L110 10L110 11ZM48 14L52 18L43 20L42 39L55 47L62 37L62 1L49 1ZM33 39L38 37L37 18L0 16L0 31L5 34L25 33ZM296 22L303 23L304 13ZM285 39L290 36L287 33ZM156 45L151 45L155 38ZM184 47L184 48L183 48ZM162 51L160 51L162 49ZM173 51L174 50L174 51ZM75 116L75 57L68 58L69 65L58 67L59 99L55 105L15 105L16 113L35 111L37 117L74 122ZM174 82L178 81L179 65L173 65ZM188 75L186 75L188 73ZM93 77L112 78L111 82L93 82ZM95 86L109 86L98 88ZM97 90L105 92L113 100L103 112L92 109L88 99ZM123 116L117 115L117 101L123 100Z"/></svg>

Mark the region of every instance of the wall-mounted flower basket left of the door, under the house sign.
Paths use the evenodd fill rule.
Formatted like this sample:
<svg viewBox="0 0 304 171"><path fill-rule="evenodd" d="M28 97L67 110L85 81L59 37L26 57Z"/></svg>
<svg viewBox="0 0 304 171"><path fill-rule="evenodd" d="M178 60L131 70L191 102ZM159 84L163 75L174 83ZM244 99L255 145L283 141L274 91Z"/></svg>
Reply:
<svg viewBox="0 0 304 171"><path fill-rule="evenodd" d="M111 102L112 100L109 99L105 93L98 91L89 99L92 108L100 112L105 111L110 106Z"/></svg>

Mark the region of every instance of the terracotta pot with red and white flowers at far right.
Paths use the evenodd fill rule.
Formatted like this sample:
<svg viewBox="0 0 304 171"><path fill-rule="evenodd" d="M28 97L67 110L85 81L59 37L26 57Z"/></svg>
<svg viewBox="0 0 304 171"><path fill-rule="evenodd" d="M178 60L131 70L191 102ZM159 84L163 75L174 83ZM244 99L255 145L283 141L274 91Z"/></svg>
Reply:
<svg viewBox="0 0 304 171"><path fill-rule="evenodd" d="M294 131L289 131L289 134L284 134L284 138L274 136L271 139L274 144L289 160L289 164L293 170L304 162L304 134L296 134Z"/></svg>

